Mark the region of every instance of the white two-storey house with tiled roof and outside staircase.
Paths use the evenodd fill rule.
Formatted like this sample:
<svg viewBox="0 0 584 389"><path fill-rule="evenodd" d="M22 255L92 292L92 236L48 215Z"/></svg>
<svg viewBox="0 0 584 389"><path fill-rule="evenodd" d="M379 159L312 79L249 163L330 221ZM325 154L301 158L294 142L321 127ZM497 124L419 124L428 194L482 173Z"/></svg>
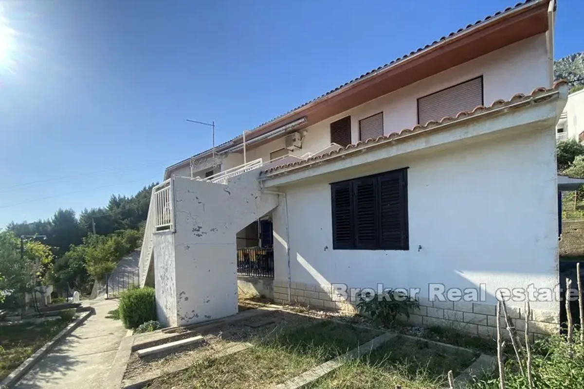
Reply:
<svg viewBox="0 0 584 389"><path fill-rule="evenodd" d="M245 163L238 136L168 167L140 264L159 320L237 313L238 272L328 309L353 309L339 284L419 288L412 323L481 335L499 288L558 293L554 17L508 8L246 133ZM531 306L532 331L557 330L557 299Z"/></svg>

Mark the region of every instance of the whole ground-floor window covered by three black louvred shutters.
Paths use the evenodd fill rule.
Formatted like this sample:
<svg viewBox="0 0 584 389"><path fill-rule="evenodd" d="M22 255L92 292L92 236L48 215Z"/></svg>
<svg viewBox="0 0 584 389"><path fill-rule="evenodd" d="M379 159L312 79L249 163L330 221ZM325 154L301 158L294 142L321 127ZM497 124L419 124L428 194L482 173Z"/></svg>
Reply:
<svg viewBox="0 0 584 389"><path fill-rule="evenodd" d="M331 184L334 250L409 250L407 170Z"/></svg>

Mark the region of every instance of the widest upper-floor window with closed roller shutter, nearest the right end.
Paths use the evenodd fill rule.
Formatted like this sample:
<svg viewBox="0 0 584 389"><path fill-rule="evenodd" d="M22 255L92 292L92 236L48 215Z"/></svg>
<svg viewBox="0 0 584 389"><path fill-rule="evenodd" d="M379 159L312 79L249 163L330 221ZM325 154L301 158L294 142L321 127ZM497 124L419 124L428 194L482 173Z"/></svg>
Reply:
<svg viewBox="0 0 584 389"><path fill-rule="evenodd" d="M482 76L451 86L418 99L418 123L455 117L463 111L472 111L483 105Z"/></svg>

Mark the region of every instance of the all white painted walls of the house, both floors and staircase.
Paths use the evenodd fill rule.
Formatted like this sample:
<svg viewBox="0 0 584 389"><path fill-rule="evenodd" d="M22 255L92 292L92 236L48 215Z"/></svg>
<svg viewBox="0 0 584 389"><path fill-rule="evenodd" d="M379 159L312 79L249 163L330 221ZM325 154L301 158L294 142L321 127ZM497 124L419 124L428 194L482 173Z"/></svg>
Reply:
<svg viewBox="0 0 584 389"><path fill-rule="evenodd" d="M360 141L359 120L381 111L385 135L412 128L418 124L419 97L478 76L485 106L550 87L548 51L540 34L402 87L308 126L302 148L291 154L329 146L331 122L347 115L352 143ZM176 232L154 234L159 320L186 325L237 313L236 236L270 211L274 285L375 288L383 283L420 288L419 297L427 298L430 283L446 289L486 283L487 304L495 302L498 288L533 283L557 292L554 127L564 103L472 118L446 131L262 178L261 184L259 169L227 185L180 178L190 176L188 165L171 170ZM249 146L246 160L267 162L283 147L283 136ZM220 159L222 171L244 163L241 152ZM409 168L409 250L333 250L329 184L402 167ZM197 165L197 172L205 169ZM558 302L533 307L557 311Z"/></svg>

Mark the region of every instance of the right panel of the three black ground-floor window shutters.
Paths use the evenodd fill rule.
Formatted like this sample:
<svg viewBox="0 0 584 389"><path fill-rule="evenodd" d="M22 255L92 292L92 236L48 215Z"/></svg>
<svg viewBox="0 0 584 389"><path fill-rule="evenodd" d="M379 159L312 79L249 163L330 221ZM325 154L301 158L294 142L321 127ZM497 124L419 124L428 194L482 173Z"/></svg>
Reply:
<svg viewBox="0 0 584 389"><path fill-rule="evenodd" d="M407 170L379 177L381 248L409 250Z"/></svg>

